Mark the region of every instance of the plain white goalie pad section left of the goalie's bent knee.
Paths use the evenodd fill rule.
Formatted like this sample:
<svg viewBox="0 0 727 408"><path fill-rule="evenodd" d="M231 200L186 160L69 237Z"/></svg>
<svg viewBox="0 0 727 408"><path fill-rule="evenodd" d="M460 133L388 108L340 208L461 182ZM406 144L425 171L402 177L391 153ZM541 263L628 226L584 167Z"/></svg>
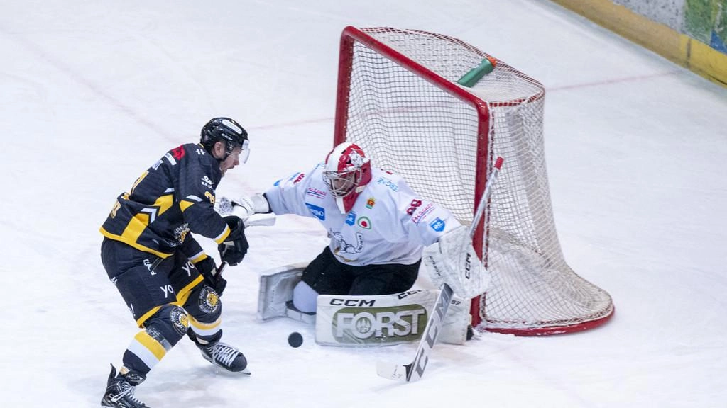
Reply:
<svg viewBox="0 0 727 408"><path fill-rule="evenodd" d="M257 319L265 320L287 315L288 301L293 300L293 288L308 263L280 266L260 274L257 294Z"/></svg>

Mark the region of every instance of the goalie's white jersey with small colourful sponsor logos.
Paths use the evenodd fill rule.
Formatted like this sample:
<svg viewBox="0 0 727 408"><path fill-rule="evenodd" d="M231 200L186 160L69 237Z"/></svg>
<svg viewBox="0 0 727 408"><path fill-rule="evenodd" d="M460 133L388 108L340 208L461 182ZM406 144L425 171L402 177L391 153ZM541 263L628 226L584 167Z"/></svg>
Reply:
<svg viewBox="0 0 727 408"><path fill-rule="evenodd" d="M371 168L371 181L348 213L341 213L323 179L324 163L296 173L268 191L270 210L318 219L331 237L329 247L345 264L414 264L422 249L459 226L452 214L422 200L401 176Z"/></svg>

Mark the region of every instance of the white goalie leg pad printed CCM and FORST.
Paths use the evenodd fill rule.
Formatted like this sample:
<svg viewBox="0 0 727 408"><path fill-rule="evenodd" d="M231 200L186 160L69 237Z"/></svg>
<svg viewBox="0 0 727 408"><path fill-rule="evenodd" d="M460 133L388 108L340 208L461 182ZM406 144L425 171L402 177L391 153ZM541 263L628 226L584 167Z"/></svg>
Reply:
<svg viewBox="0 0 727 408"><path fill-rule="evenodd" d="M395 295L318 295L316 343L326 346L389 346L419 340L437 290Z"/></svg>

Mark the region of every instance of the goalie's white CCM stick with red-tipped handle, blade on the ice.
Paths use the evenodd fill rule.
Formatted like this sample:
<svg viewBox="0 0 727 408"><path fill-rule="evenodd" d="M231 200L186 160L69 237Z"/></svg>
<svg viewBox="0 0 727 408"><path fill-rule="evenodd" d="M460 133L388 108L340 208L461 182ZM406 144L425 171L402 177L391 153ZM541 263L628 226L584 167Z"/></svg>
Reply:
<svg viewBox="0 0 727 408"><path fill-rule="evenodd" d="M502 167L503 159L497 157L495 160L492 174L490 175L487 184L485 185L485 192L483 192L480 199L480 203L477 205L477 211L473 218L472 224L470 225L470 239L475 234L477 224L480 222L482 215L485 211L487 200L489 199L492 183L497 179L499 169ZM485 255L483 254L483 258ZM434 309L432 314L427 321L427 327L425 327L422 333L422 338L419 340L419 346L417 347L417 355L414 356L414 361L409 364L395 364L390 362L377 362L376 372L378 375L390 380L401 380L406 382L416 381L422 378L424 370L427 368L429 362L429 354L436 343L439 336L439 332L442 327L442 320L449 309L449 303L452 298L452 289L446 283L442 285L441 291L437 296L437 301L434 303Z"/></svg>

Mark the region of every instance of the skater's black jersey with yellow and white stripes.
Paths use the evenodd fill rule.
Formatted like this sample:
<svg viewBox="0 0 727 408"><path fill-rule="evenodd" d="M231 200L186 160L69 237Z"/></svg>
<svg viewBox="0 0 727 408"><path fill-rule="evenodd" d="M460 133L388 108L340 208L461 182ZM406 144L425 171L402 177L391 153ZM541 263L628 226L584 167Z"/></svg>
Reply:
<svg viewBox="0 0 727 408"><path fill-rule="evenodd" d="M230 228L214 211L220 163L201 144L182 144L159 159L119 195L100 231L105 237L166 258L201 250L189 232L225 240ZM189 236L188 236L189 235Z"/></svg>

